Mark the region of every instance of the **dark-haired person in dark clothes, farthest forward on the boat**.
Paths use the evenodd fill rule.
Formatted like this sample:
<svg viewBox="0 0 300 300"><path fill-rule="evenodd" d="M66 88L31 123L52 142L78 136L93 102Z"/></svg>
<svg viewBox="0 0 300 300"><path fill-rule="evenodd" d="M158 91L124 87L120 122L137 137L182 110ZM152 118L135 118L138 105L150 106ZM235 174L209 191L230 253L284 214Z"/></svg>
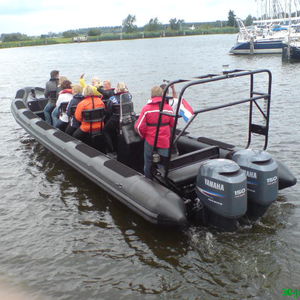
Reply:
<svg viewBox="0 0 300 300"><path fill-rule="evenodd" d="M52 124L51 113L55 108L56 100L58 97L58 81L59 71L53 70L50 72L50 80L46 83L45 98L48 99L48 103L44 108L45 121L48 124Z"/></svg>

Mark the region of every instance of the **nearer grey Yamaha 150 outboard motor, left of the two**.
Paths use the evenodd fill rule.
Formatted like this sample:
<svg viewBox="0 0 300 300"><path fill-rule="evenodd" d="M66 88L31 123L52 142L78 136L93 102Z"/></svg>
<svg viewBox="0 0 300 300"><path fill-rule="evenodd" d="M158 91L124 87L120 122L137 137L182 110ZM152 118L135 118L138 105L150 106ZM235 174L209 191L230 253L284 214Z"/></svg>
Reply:
<svg viewBox="0 0 300 300"><path fill-rule="evenodd" d="M247 179L238 164L228 159L204 162L197 177L197 196L209 225L232 231L247 211Z"/></svg>

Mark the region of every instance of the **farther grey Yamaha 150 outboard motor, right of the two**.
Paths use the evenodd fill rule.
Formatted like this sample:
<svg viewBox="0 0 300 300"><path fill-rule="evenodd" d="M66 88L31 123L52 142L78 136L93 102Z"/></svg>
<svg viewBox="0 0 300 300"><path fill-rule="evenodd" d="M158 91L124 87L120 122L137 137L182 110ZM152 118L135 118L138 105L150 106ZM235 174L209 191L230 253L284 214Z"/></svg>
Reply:
<svg viewBox="0 0 300 300"><path fill-rule="evenodd" d="M278 195L278 165L265 151L243 149L232 159L246 171L248 211L251 218L262 216Z"/></svg>

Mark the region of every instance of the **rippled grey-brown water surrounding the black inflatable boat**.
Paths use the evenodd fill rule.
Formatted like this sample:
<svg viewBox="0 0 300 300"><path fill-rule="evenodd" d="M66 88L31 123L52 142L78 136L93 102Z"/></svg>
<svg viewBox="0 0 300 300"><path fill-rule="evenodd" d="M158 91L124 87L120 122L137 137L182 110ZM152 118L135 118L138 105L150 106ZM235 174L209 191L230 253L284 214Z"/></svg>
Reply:
<svg viewBox="0 0 300 300"><path fill-rule="evenodd" d="M10 113L16 90L44 86L52 69L74 82L81 73L88 81L126 81L140 111L163 79L219 72L226 64L268 68L269 151L299 180L300 64L230 56L234 42L234 35L215 35L0 51L0 285L42 300L288 299L283 288L300 289L299 184L236 233L158 229L40 146ZM210 84L187 98L195 108L228 101L244 83ZM246 123L242 109L227 109L201 116L194 130L243 145Z"/></svg>

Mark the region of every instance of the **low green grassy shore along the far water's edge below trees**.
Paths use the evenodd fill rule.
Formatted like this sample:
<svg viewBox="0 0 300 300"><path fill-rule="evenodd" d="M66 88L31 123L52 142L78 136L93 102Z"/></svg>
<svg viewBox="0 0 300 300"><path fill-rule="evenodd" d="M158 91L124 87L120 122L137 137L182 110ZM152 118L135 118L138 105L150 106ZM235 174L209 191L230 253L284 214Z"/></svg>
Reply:
<svg viewBox="0 0 300 300"><path fill-rule="evenodd" d="M237 28L224 27L224 28L209 28L195 31L166 31L166 32L136 32L136 33L114 33L102 34L100 36L88 36L85 41L74 41L73 38L46 38L46 39L31 39L26 41L13 41L1 42L0 49L20 48L31 46L47 46L56 44L80 44L91 42L107 42L107 41L122 41L122 40L139 40L139 39L152 39L152 38L165 38L165 37L184 37L193 35L212 35L212 34L235 34L238 33Z"/></svg>

